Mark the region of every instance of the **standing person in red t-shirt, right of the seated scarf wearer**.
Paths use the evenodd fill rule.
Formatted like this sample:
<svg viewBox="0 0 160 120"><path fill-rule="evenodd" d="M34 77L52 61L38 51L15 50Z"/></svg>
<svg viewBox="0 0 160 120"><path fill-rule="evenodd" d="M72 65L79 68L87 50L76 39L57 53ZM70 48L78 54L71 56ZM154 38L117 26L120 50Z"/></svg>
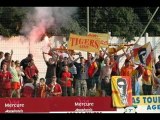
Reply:
<svg viewBox="0 0 160 120"><path fill-rule="evenodd" d="M62 96L72 96L72 73L69 72L68 66L64 66L64 71L61 74Z"/></svg>

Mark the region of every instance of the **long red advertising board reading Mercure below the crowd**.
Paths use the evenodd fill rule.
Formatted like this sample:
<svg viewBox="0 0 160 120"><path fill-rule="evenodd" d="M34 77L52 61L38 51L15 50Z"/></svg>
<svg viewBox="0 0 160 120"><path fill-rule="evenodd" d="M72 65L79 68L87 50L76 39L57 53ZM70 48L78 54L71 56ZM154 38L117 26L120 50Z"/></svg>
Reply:
<svg viewBox="0 0 160 120"><path fill-rule="evenodd" d="M103 113L116 111L111 97L1 98L0 113Z"/></svg>

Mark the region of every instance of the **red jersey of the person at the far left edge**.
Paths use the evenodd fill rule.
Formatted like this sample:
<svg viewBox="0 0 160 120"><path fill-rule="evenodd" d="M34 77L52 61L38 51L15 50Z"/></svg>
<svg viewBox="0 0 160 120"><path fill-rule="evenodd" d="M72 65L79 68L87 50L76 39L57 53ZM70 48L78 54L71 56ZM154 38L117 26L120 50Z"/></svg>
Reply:
<svg viewBox="0 0 160 120"><path fill-rule="evenodd" d="M11 79L12 75L9 71L6 73L0 72L0 88L1 89L10 89L11 88Z"/></svg>

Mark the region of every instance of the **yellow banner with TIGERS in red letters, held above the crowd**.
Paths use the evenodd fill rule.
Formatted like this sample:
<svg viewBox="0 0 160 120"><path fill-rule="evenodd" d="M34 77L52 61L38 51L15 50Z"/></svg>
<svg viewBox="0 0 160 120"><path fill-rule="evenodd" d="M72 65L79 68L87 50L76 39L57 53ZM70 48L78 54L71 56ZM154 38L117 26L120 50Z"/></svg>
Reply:
<svg viewBox="0 0 160 120"><path fill-rule="evenodd" d="M68 49L98 53L100 50L100 39L91 36L70 34Z"/></svg>

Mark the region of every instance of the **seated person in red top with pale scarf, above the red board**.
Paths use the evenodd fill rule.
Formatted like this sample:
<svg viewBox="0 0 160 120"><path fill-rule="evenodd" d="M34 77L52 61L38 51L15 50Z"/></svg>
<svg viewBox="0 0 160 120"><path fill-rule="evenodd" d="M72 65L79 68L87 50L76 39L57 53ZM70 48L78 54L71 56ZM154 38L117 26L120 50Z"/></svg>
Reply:
<svg viewBox="0 0 160 120"><path fill-rule="evenodd" d="M48 87L49 87L49 97L61 96L62 95L62 88L61 88L60 84L58 84L56 81L57 81L56 76L53 76L51 84L48 85Z"/></svg>

